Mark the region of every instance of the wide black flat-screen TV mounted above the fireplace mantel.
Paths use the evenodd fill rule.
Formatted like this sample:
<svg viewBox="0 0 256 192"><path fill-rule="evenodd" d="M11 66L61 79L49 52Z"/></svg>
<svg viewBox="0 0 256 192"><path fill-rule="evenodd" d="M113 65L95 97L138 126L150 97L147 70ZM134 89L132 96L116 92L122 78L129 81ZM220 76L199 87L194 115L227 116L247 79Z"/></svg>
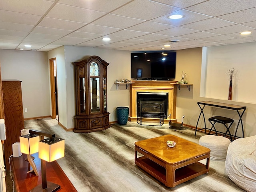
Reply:
<svg viewBox="0 0 256 192"><path fill-rule="evenodd" d="M131 53L131 78L173 79L176 71L176 52Z"/></svg>

